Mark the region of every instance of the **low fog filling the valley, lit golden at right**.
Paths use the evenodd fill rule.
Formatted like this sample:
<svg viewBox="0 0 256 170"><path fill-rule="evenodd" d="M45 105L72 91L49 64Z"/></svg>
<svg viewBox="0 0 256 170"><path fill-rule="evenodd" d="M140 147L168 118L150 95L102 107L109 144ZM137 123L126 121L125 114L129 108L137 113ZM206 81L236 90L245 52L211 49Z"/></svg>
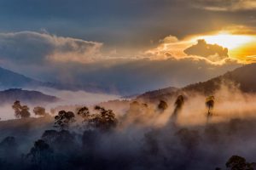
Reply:
<svg viewBox="0 0 256 170"><path fill-rule="evenodd" d="M118 96L104 94L58 93L55 94L65 100L55 106L61 107L62 104L68 110L69 107L86 105L92 117L103 111L93 108L97 102L118 99ZM0 141L7 136L15 137L17 150L15 159L6 158L8 152L1 149L3 142L0 143L0 158L3 160L0 166L22 162L24 169L205 170L225 169L225 163L234 155L245 157L247 162L255 161L255 94L244 94L239 86L223 82L212 94L214 106L208 122L207 96L195 92L180 94L184 101L178 110L175 110L177 96L164 99L167 107L159 105L160 99L154 102L133 99L100 103L98 105L107 111L104 110L104 114L109 114L107 121L98 115L100 122L90 120L88 115L87 118L81 117L75 112L78 110L73 109L76 121L65 129L54 127L53 116L1 122L5 132L0 135ZM114 115L108 109L113 110ZM177 111L177 119L173 118L173 111ZM44 140L45 150L38 148L37 144L33 146L38 139ZM37 152L32 152L32 147ZM42 157L38 158L38 153ZM26 158L21 159L22 154ZM11 168L21 167L13 165Z"/></svg>

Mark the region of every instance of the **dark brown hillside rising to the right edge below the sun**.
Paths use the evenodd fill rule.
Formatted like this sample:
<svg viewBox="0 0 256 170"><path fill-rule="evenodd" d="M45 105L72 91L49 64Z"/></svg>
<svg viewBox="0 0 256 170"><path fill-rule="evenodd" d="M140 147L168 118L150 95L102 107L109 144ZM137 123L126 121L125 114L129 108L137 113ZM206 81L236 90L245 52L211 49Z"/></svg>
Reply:
<svg viewBox="0 0 256 170"><path fill-rule="evenodd" d="M151 92L147 92L145 94L137 96L137 99L166 99L170 98L173 95L188 93L188 92L196 92L204 95L213 94L216 90L218 90L224 82L227 85L235 84L237 87L241 89L241 92L244 93L256 93L256 64L243 65L240 68L235 69L234 71L228 71L224 75L212 78L206 82L197 82L195 84L190 84L184 88L179 88L171 91L168 91L163 88ZM231 82L231 83L230 83Z"/></svg>

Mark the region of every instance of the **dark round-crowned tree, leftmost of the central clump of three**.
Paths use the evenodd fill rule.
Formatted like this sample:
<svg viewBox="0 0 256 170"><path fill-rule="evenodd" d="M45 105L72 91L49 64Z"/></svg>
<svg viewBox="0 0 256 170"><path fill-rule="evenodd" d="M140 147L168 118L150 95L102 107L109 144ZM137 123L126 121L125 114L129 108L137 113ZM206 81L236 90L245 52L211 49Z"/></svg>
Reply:
<svg viewBox="0 0 256 170"><path fill-rule="evenodd" d="M59 111L55 116L55 127L59 127L60 130L66 129L71 123L75 122L75 115L72 111Z"/></svg>

